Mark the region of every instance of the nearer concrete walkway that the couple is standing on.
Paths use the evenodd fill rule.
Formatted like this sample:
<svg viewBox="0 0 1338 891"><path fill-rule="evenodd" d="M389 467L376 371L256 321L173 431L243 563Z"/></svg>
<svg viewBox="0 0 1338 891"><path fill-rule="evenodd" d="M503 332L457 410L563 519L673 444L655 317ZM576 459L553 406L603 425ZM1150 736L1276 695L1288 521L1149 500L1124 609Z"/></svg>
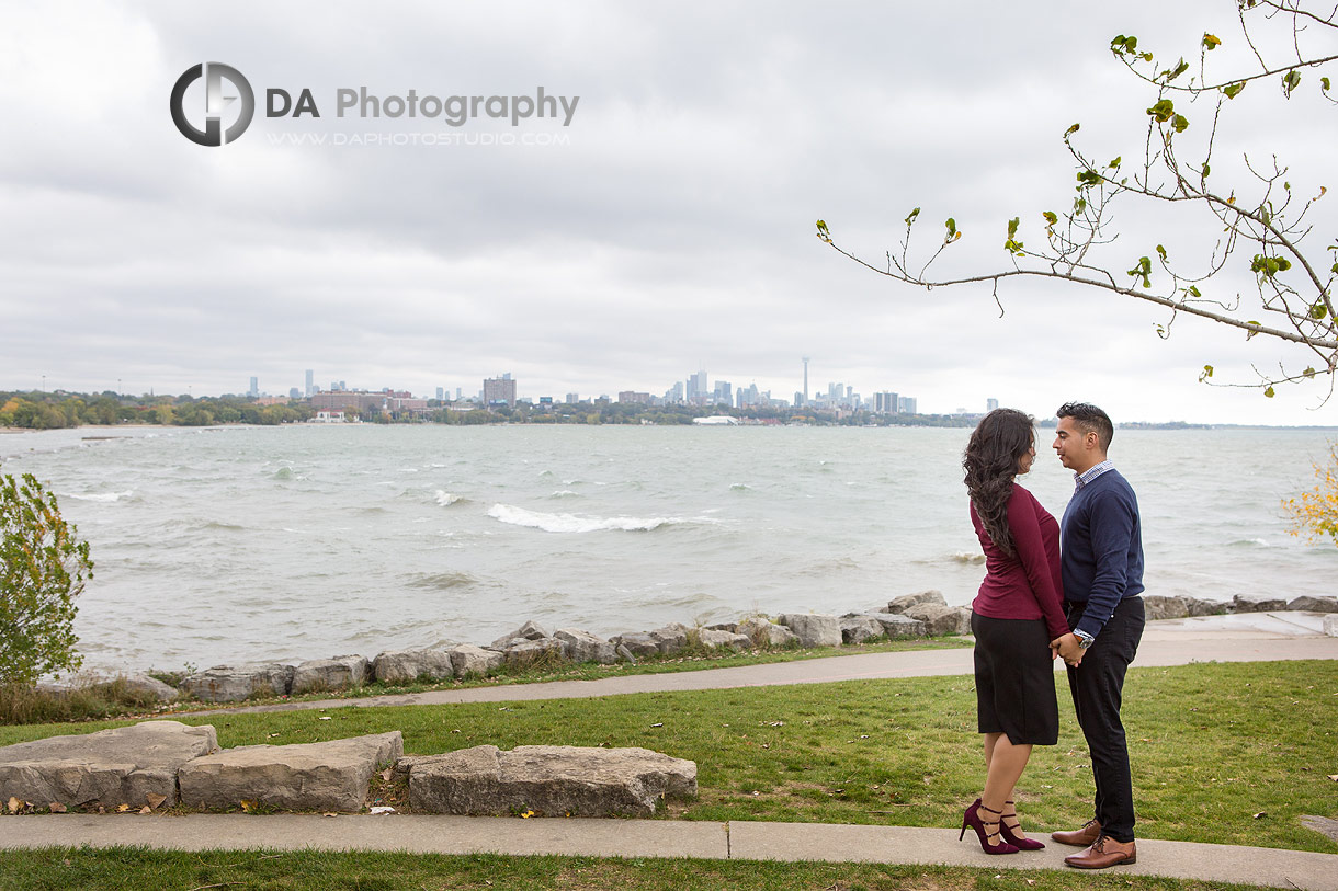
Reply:
<svg viewBox="0 0 1338 891"><path fill-rule="evenodd" d="M4 817L0 827L4 828L0 850L56 846L146 846L183 851L264 847L278 851L565 854L1065 871L1069 867L1064 866L1064 858L1077 851L1049 844L1044 851L989 856L981 851L974 836L959 842L957 829L823 823L219 813L24 816ZM1140 839L1137 863L1103 874L1338 891L1338 854Z"/></svg>

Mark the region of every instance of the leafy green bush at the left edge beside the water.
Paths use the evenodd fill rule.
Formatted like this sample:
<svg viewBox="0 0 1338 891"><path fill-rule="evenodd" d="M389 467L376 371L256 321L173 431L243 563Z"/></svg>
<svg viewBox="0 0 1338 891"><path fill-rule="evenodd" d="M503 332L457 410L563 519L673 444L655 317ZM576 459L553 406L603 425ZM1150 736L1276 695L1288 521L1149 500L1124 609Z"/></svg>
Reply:
<svg viewBox="0 0 1338 891"><path fill-rule="evenodd" d="M0 686L83 662L75 598L92 578L88 543L31 474L0 474Z"/></svg>

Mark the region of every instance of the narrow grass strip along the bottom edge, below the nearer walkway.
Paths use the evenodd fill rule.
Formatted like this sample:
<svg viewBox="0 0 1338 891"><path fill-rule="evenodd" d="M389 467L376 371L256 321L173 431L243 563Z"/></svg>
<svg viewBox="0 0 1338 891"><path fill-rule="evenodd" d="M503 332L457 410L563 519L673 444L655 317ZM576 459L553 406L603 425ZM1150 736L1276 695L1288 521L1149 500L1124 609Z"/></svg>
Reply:
<svg viewBox="0 0 1338 891"><path fill-rule="evenodd" d="M265 891L1115 891L1240 888L1207 882L1131 876L1123 872L975 870L966 867L748 860L617 859L498 855L329 854L312 851L104 851L48 848L0 854L0 887L8 891L66 888L222 888ZM1255 887L1255 886L1250 886Z"/></svg>

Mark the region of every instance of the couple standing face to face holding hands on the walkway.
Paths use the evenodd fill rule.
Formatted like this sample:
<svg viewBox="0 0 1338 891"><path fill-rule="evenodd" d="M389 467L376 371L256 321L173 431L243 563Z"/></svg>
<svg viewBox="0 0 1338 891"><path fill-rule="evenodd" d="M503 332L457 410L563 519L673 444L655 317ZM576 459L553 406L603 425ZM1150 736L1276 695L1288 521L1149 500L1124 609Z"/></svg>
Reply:
<svg viewBox="0 0 1338 891"><path fill-rule="evenodd" d="M1068 665L1073 709L1092 756L1096 815L1082 828L1050 837L1084 848L1065 858L1068 866L1103 870L1136 859L1120 696L1143 637L1143 539L1133 490L1107 459L1111 419L1080 403L1056 413L1053 447L1077 483L1062 524L1013 480L1036 460L1030 416L1010 408L990 412L962 459L986 566L971 603L986 780L962 817L962 833L974 828L986 854L1045 847L1022 832L1013 788L1032 747L1058 738L1052 668L1058 657Z"/></svg>

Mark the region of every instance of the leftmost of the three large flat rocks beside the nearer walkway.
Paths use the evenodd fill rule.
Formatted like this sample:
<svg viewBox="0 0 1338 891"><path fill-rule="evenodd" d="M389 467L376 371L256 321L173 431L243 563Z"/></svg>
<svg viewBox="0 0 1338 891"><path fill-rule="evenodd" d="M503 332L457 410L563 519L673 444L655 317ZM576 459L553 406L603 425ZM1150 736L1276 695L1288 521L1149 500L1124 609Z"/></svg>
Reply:
<svg viewBox="0 0 1338 891"><path fill-rule="evenodd" d="M179 721L146 721L7 745L0 748L0 801L16 797L67 808L170 807L177 804L178 768L217 748L213 726Z"/></svg>

